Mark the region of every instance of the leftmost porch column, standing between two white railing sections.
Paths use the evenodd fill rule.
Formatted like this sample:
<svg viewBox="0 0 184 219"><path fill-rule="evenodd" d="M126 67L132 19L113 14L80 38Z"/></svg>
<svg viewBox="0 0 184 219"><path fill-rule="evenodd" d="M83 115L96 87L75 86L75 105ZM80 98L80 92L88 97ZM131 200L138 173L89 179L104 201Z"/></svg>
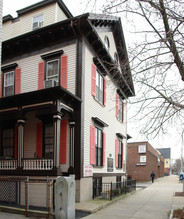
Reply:
<svg viewBox="0 0 184 219"><path fill-rule="evenodd" d="M22 158L23 158L23 153L24 153L24 125L25 125L25 120L19 119L17 121L18 124L18 163L17 167L21 168L22 165Z"/></svg>

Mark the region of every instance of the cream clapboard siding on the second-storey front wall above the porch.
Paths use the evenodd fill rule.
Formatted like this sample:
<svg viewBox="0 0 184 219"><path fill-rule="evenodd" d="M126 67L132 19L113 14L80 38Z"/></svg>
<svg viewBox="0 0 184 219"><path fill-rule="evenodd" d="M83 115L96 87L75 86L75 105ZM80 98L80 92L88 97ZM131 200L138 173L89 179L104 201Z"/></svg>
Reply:
<svg viewBox="0 0 184 219"><path fill-rule="evenodd" d="M76 44L71 44L55 50L46 51L41 54L29 56L16 60L21 68L21 93L38 90L38 63L43 61L41 55L62 49L64 55L68 55L68 81L67 90L75 94L76 87ZM6 63L6 65L12 63ZM5 65L4 65L5 66Z"/></svg>

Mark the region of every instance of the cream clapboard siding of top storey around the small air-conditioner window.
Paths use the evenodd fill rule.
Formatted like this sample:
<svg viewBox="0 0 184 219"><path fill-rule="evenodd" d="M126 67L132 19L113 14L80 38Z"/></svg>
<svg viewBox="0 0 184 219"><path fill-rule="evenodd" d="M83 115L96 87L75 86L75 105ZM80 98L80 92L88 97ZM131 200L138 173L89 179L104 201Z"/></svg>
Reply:
<svg viewBox="0 0 184 219"><path fill-rule="evenodd" d="M50 25L56 21L56 3L34 10L30 13L20 16L17 21L14 20L3 23L2 28L2 40L8 40L21 34L32 31L33 17L39 14L43 14L44 22L43 26Z"/></svg>

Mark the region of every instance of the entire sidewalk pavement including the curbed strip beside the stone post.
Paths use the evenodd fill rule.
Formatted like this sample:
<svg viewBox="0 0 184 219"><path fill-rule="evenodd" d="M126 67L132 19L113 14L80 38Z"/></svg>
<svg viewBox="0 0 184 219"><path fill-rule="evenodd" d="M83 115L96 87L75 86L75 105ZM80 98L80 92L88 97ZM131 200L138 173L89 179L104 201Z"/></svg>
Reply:
<svg viewBox="0 0 184 219"><path fill-rule="evenodd" d="M142 187L145 187L142 184ZM139 189L120 198L109 200L91 200L76 203L76 218L85 219L168 219L169 211L183 208L184 197L175 196L175 192L182 192L183 184L178 176L168 176L157 179L155 183L148 183L145 189ZM80 214L81 211L81 214ZM91 214L90 214L91 213ZM90 214L86 217L85 215ZM2 219L26 218L24 215L0 212ZM30 217L33 219L34 217Z"/></svg>

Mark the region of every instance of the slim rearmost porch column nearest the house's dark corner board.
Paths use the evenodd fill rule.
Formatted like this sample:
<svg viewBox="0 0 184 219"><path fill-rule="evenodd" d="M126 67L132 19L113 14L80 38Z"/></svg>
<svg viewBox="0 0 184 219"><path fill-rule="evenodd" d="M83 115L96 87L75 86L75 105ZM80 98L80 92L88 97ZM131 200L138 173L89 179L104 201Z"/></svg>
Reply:
<svg viewBox="0 0 184 219"><path fill-rule="evenodd" d="M75 135L75 122L70 122L70 163L69 172L74 171L74 135Z"/></svg>

